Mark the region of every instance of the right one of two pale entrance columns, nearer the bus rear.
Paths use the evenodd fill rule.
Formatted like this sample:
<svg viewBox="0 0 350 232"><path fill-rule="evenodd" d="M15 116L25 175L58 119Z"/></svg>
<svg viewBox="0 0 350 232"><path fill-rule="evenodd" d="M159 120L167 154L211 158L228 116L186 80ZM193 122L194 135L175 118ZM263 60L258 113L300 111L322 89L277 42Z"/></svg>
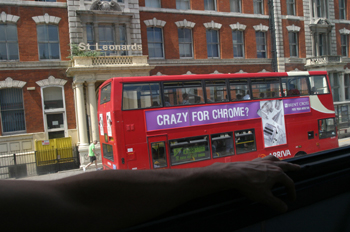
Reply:
<svg viewBox="0 0 350 232"><path fill-rule="evenodd" d="M98 124L97 101L95 97L95 81L88 82L88 93L89 93L92 140L99 141L98 125L97 125Z"/></svg>

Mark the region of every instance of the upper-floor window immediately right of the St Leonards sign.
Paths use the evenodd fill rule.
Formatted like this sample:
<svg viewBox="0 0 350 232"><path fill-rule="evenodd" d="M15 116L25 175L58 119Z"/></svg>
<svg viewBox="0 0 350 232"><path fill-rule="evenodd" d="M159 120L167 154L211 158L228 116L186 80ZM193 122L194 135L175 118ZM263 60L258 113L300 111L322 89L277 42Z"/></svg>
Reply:
<svg viewBox="0 0 350 232"><path fill-rule="evenodd" d="M148 27L147 43L149 58L164 58L162 28Z"/></svg>

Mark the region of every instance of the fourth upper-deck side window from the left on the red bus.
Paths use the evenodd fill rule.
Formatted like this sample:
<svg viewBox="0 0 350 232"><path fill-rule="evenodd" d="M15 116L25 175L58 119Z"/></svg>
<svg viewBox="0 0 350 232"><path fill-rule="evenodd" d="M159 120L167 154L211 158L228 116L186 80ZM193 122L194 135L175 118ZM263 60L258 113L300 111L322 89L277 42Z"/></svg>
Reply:
<svg viewBox="0 0 350 232"><path fill-rule="evenodd" d="M231 101L250 100L249 85L247 79L230 80Z"/></svg>

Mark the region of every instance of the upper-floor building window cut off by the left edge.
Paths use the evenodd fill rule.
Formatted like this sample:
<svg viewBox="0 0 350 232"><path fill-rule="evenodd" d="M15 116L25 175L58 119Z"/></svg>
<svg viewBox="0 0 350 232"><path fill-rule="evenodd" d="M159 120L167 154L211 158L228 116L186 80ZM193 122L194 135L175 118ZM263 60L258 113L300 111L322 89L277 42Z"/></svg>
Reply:
<svg viewBox="0 0 350 232"><path fill-rule="evenodd" d="M0 24L0 60L18 60L16 24Z"/></svg>

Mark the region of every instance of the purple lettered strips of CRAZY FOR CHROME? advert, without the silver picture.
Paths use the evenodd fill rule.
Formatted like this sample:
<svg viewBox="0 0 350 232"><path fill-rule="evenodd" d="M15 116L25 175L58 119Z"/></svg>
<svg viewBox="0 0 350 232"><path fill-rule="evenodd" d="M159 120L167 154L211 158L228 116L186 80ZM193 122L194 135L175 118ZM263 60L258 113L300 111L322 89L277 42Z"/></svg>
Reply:
<svg viewBox="0 0 350 232"><path fill-rule="evenodd" d="M287 114L310 112L308 97L278 100ZM272 101L271 101L272 102ZM260 118L260 102L146 111L147 131Z"/></svg>

